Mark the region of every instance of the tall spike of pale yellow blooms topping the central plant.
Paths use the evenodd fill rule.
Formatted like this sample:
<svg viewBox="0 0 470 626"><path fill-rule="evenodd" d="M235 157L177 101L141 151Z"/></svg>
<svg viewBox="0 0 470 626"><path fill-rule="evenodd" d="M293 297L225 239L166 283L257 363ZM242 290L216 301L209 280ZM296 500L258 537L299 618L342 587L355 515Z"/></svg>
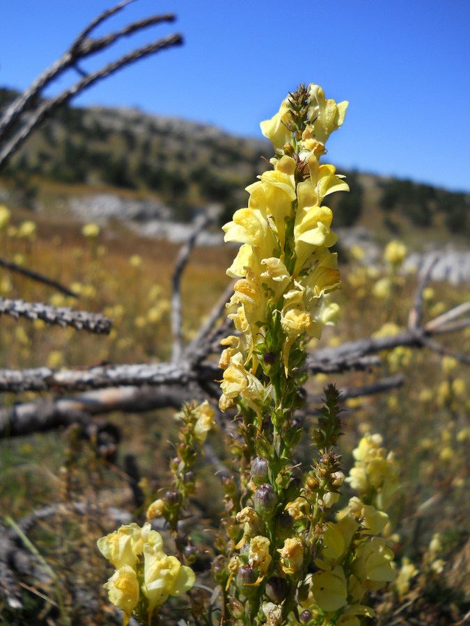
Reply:
<svg viewBox="0 0 470 626"><path fill-rule="evenodd" d="M329 251L337 240L332 211L322 202L348 187L334 166L318 159L329 134L343 124L346 106L325 99L316 85L301 86L261 124L277 156L272 169L246 188L248 207L224 225L225 241L242 244L227 273L240 279L229 316L243 339L224 342L222 410L240 400L260 416L279 391L261 382L263 374L290 376L303 355L295 348L319 338L322 326L336 319L337 305L322 298L340 287L336 254Z"/></svg>

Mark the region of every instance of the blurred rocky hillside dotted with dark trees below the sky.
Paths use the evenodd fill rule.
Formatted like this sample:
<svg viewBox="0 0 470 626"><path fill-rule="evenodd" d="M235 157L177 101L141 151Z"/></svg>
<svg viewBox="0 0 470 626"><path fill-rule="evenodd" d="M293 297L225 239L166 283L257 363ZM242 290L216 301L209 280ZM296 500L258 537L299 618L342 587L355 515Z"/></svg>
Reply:
<svg viewBox="0 0 470 626"><path fill-rule="evenodd" d="M14 97L0 90L0 109ZM54 219L123 219L146 234L218 207L219 222L246 202L244 188L269 165L267 141L136 109L64 107L10 162L0 200ZM470 196L358 172L332 197L336 227L363 227L378 243L400 237L415 250L449 241L467 248ZM174 230L174 228L173 228ZM168 233L169 229L166 229ZM164 231L163 231L164 232Z"/></svg>

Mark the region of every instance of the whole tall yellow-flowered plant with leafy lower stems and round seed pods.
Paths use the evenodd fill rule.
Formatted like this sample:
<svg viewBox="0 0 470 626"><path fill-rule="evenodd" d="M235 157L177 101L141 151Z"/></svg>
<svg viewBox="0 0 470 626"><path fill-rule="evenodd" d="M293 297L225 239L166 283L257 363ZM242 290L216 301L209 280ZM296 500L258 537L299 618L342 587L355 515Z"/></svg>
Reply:
<svg viewBox="0 0 470 626"><path fill-rule="evenodd" d="M345 480L334 451L341 422L332 385L312 432L319 457L308 470L293 460L306 344L338 314L329 301L340 288L329 250L337 238L323 201L348 187L319 159L346 107L325 99L316 85L290 94L261 125L276 152L272 169L246 188L248 206L224 225L225 240L242 244L227 272L238 279L228 305L237 332L222 342L219 362L219 406L237 409L240 437L228 443L240 459L240 485L224 483L222 527L230 541L214 575L240 625L297 623L302 613L311 626L354 626L360 616L373 616L366 593L395 576L393 552L379 536L389 517L376 500L391 498L396 474L376 438L367 451L369 440L361 442L347 479L356 481L361 499L331 521Z"/></svg>

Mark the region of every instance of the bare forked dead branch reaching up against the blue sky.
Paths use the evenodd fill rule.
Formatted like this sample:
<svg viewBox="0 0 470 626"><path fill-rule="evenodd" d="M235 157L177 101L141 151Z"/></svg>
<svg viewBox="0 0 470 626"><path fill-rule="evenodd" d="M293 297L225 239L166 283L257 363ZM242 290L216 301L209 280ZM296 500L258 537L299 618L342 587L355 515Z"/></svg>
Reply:
<svg viewBox="0 0 470 626"><path fill-rule="evenodd" d="M79 34L68 51L58 58L58 60L51 67L47 68L45 72L42 72L42 74L40 74L40 76L33 81L31 86L26 89L22 95L17 97L15 102L10 104L6 111L3 112L3 115L0 117L0 145L3 144L3 148L0 150L0 170L6 166L9 159L19 149L20 145L22 145L31 132L38 127L38 125L40 125L40 123L45 120L47 116L54 113L59 106L68 102L72 97L75 97L86 88L93 85L93 83L100 81L110 74L113 74L113 72L116 72L121 67L130 65L131 63L134 63L141 58L145 58L150 54L155 54L162 49L180 45L182 43L182 36L179 33L174 33L173 35L169 35L165 38L151 42L146 46L135 49L134 51L121 56L116 61L105 65L100 68L100 70L96 70L91 74L86 74L80 70L79 73L82 76L81 80L75 83L72 87L65 89L60 95L52 99L48 99L43 102L39 100L39 104L36 106L36 109L34 109L34 103L38 102L42 91L47 87L47 85L58 79L58 77L61 77L65 70L70 69L70 67L75 67L77 69L79 61L95 54L97 51L106 49L120 38L130 36L137 31L142 31L143 29L148 28L148 26L159 24L160 22L173 22L175 19L175 15L172 13L154 15L146 19L141 19L137 22L132 22L120 31L109 33L104 37L95 39L89 37L90 33L99 24L111 17L111 15L117 11L123 9L128 3L129 0L120 2L113 8L104 11L104 13L101 13L93 19L91 24L89 24L86 29ZM29 113L26 118L24 114L27 111L31 111L31 109L34 109L33 112ZM24 120L23 123L22 120ZM20 127L15 130L18 123Z"/></svg>

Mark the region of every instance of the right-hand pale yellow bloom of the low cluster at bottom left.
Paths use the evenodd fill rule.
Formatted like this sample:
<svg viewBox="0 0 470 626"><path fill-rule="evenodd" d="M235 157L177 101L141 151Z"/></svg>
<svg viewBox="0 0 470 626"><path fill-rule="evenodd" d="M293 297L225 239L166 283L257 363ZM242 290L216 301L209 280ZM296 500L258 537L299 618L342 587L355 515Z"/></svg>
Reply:
<svg viewBox="0 0 470 626"><path fill-rule="evenodd" d="M144 544L143 563L142 591L148 598L149 615L169 595L181 595L196 582L191 568L181 565L175 556L167 556L159 547Z"/></svg>

